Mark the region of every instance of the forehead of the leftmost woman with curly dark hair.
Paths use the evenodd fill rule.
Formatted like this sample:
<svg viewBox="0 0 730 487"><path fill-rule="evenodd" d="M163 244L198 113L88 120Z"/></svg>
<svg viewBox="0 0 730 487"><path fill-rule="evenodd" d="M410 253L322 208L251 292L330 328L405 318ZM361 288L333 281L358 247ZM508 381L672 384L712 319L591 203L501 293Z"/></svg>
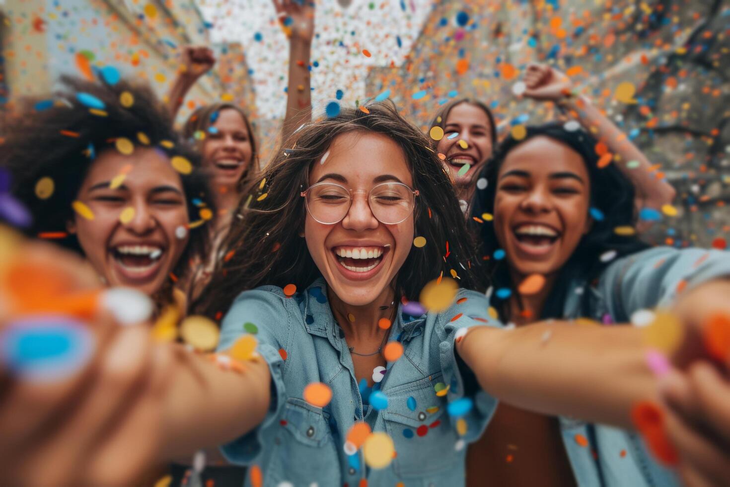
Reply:
<svg viewBox="0 0 730 487"><path fill-rule="evenodd" d="M131 166L131 169L130 169ZM123 156L115 149L99 153L89 168L84 185L110 181L126 172L124 184L132 186L172 185L182 189L183 181L164 153L155 149L136 147L131 156Z"/></svg>

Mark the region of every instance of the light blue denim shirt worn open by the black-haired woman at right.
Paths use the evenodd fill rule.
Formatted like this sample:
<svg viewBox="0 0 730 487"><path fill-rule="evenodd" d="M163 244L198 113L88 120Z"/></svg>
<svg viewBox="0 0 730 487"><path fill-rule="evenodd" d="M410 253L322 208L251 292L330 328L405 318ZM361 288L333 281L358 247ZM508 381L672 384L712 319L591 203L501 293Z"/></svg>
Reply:
<svg viewBox="0 0 730 487"><path fill-rule="evenodd" d="M588 317L605 324L628 323L637 310L669 307L677 296L680 283L685 283L688 289L718 277L730 277L729 252L650 248L607 266L595 288L585 282L572 282L564 313L566 318ZM582 306L583 302L588 303L588 312ZM600 387L600 384L596 386ZM560 421L563 442L578 485L680 485L672 470L653 460L636 433L570 418L560 418ZM577 434L588 439L588 446L581 446L576 441Z"/></svg>

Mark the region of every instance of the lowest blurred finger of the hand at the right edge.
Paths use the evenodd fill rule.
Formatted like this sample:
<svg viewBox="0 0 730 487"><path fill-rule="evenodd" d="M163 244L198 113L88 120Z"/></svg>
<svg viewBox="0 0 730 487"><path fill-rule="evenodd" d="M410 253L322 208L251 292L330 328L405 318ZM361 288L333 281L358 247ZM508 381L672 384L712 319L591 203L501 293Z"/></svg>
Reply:
<svg viewBox="0 0 730 487"><path fill-rule="evenodd" d="M671 410L666 410L665 413L666 434L677 448L683 463L691 464L713 480L730 480L730 459L727 458L727 453L723 453L718 445L688 427Z"/></svg>

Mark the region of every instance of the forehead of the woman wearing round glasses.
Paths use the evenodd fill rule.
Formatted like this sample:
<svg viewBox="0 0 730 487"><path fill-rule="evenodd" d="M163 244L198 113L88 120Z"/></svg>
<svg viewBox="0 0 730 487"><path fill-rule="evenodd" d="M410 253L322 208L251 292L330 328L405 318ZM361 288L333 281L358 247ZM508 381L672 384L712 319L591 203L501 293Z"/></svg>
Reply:
<svg viewBox="0 0 730 487"><path fill-rule="evenodd" d="M350 187L367 186L380 175L393 175L413 184L410 164L401 147L385 134L352 131L334 138L324 164L318 159L310 170L310 184L327 174L342 175Z"/></svg>

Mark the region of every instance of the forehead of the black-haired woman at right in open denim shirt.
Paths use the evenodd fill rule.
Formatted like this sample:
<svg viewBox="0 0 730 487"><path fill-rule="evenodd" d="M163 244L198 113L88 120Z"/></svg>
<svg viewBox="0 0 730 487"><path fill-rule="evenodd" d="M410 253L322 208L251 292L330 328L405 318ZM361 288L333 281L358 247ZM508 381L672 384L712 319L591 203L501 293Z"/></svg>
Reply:
<svg viewBox="0 0 730 487"><path fill-rule="evenodd" d="M588 169L583 157L575 150L550 137L532 137L510 150L499 169L499 177L507 171L522 169L532 177L547 176L553 172L573 172L584 181L588 180Z"/></svg>

